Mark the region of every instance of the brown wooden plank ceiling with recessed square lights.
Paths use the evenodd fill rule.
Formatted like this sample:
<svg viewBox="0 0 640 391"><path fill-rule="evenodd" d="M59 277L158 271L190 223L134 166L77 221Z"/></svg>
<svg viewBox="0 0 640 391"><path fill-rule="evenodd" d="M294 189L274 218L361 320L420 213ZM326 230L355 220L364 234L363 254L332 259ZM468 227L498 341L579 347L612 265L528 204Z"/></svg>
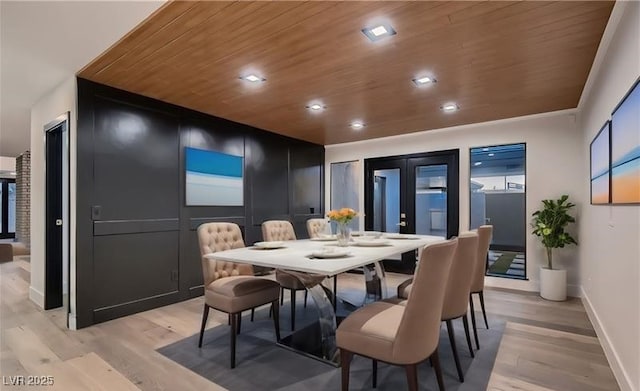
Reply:
<svg viewBox="0 0 640 391"><path fill-rule="evenodd" d="M576 107L613 3L172 2L79 76L335 144Z"/></svg>

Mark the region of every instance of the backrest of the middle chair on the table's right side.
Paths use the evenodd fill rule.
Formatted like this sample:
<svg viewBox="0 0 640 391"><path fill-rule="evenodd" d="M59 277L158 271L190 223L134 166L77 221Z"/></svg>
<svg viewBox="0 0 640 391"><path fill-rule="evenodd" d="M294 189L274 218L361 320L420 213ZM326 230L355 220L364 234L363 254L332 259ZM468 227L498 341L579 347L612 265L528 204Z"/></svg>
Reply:
<svg viewBox="0 0 640 391"><path fill-rule="evenodd" d="M467 313L477 253L478 234L475 232L460 234L444 294L442 320L455 319Z"/></svg>

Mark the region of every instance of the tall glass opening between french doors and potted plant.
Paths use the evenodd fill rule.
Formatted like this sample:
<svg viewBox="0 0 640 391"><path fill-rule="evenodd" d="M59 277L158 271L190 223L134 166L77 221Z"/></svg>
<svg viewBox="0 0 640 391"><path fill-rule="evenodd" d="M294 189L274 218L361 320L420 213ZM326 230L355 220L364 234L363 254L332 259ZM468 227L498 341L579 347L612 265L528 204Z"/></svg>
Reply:
<svg viewBox="0 0 640 391"><path fill-rule="evenodd" d="M470 152L469 226L493 225L486 275L526 279L526 144Z"/></svg>

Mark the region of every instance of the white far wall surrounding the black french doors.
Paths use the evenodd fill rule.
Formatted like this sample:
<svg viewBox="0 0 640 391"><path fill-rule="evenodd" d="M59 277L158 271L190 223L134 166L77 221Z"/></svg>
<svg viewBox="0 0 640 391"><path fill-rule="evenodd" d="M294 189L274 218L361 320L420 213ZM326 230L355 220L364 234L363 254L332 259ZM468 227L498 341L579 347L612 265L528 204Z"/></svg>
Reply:
<svg viewBox="0 0 640 391"><path fill-rule="evenodd" d="M445 114L443 114L445 115ZM455 115L455 114L454 114ZM366 131L366 129L364 130ZM460 150L460 230L469 229L469 149L500 144L527 144L527 218L539 208L540 201L568 194L582 205L583 159L582 135L573 111L547 113L509 120L487 122L386 137L355 143L328 145L325 152L325 172L331 175L331 163L408 153ZM364 162L360 189L364 189ZM327 183L330 183L327 178ZM326 187L325 205L329 205ZM364 194L360 194L360 211L364 211ZM579 221L579 219L578 219ZM362 229L364 220L361 218ZM530 230L527 228L527 232ZM580 238L578 238L580 240ZM533 235L527 235L527 276L529 281L487 277L487 285L537 291L538 267L546 260L544 248ZM557 258L557 261L556 261ZM554 253L555 264L568 269L569 294L579 295L578 254L575 247Z"/></svg>

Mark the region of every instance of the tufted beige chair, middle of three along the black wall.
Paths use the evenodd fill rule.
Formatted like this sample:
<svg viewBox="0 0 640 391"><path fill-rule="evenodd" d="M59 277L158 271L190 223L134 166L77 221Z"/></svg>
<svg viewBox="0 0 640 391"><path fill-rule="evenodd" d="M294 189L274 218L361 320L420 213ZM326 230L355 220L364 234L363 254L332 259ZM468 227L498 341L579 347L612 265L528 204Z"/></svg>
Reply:
<svg viewBox="0 0 640 391"><path fill-rule="evenodd" d="M293 224L286 220L269 220L262 223L262 239L265 241L296 240L296 231ZM314 285L319 284L325 276L309 274L309 281ZM291 331L296 329L296 292L304 291L304 306L307 306L307 289L295 275L285 270L276 269L276 281L280 283L280 304L283 304L284 290L291 292Z"/></svg>

